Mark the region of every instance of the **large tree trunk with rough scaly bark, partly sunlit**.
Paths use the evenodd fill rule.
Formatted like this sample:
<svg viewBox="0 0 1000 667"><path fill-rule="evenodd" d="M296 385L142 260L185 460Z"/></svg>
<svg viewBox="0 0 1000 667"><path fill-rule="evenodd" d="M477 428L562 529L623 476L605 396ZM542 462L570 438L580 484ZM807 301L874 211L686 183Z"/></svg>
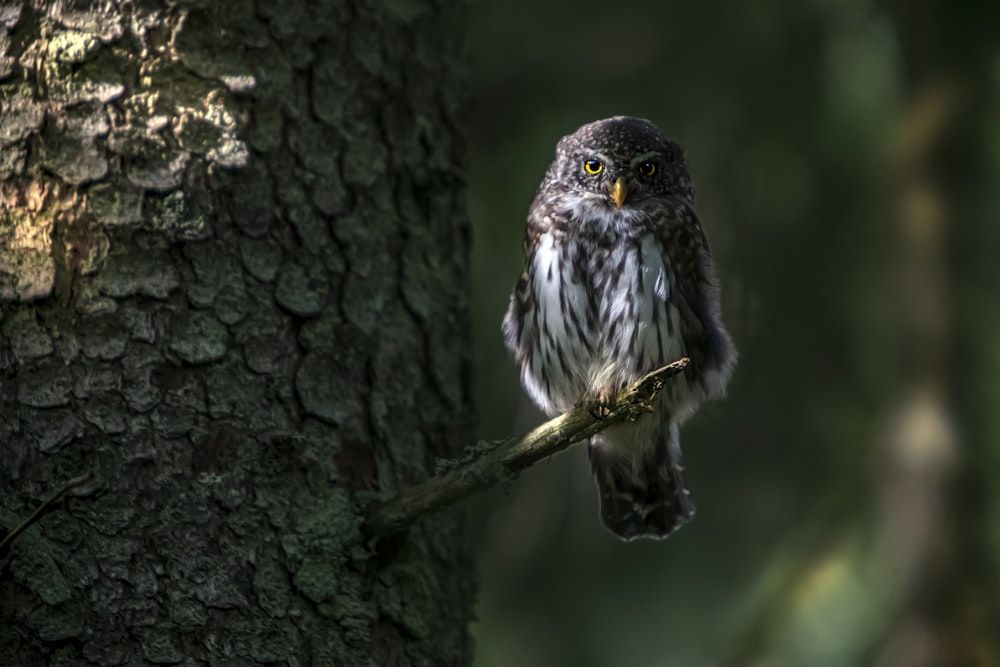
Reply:
<svg viewBox="0 0 1000 667"><path fill-rule="evenodd" d="M448 3L445 3L448 4ZM467 665L461 11L0 8L0 664ZM2 535L2 533L0 533Z"/></svg>

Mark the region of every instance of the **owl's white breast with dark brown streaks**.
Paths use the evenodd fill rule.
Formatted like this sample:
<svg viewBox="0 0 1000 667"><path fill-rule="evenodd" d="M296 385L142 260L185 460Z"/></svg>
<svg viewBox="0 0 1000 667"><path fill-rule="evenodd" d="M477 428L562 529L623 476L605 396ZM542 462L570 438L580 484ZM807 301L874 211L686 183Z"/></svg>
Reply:
<svg viewBox="0 0 1000 667"><path fill-rule="evenodd" d="M652 233L594 243L539 235L530 263L534 308L522 380L545 412L613 394L685 354L675 273ZM684 393L683 380L673 386Z"/></svg>

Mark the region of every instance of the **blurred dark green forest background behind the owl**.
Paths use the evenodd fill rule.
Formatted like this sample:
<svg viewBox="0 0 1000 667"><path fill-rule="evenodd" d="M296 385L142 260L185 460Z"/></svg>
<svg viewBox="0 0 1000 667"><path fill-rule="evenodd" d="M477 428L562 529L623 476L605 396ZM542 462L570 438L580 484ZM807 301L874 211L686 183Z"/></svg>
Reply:
<svg viewBox="0 0 1000 667"><path fill-rule="evenodd" d="M601 528L582 447L473 503L476 667L1000 664L998 6L473 5L482 437L542 421L499 325L555 144L598 118L687 148L741 353L670 539Z"/></svg>

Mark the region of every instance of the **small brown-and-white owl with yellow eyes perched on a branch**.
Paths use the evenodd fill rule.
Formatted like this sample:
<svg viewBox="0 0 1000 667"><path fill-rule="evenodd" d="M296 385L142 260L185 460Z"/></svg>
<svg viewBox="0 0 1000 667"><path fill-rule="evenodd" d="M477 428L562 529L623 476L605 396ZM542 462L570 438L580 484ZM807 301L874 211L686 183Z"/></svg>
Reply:
<svg viewBox="0 0 1000 667"><path fill-rule="evenodd" d="M590 440L601 519L664 538L694 515L680 425L721 396L736 363L683 149L616 116L563 137L528 211L525 268L504 317L507 347L549 415L610 401L646 373L691 363L655 409Z"/></svg>

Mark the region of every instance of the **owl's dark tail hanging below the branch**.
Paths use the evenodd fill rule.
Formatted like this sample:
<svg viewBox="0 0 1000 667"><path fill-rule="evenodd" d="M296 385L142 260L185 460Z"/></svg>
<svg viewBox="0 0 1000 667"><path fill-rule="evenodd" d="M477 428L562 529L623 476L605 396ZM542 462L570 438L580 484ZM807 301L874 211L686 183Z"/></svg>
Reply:
<svg viewBox="0 0 1000 667"><path fill-rule="evenodd" d="M601 521L623 540L663 539L694 516L681 477L678 428L671 424L663 430L655 446L640 451L609 447L621 444L613 442L613 434L595 436L588 448L601 497Z"/></svg>

